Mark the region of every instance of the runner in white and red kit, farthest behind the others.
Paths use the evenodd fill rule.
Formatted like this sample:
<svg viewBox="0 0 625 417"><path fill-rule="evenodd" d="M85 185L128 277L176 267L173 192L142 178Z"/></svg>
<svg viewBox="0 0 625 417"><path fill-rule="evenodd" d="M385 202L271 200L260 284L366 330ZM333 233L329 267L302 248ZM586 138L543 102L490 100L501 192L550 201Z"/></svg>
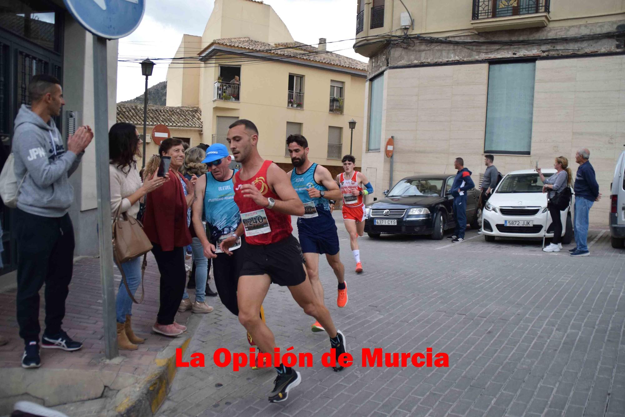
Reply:
<svg viewBox="0 0 625 417"><path fill-rule="evenodd" d="M373 192L373 187L362 172L354 170L356 158L345 155L342 159L344 172L336 176L336 184L343 197L343 223L349 233L349 244L356 260L356 272L362 272L358 237L364 234L364 202L362 197Z"/></svg>

